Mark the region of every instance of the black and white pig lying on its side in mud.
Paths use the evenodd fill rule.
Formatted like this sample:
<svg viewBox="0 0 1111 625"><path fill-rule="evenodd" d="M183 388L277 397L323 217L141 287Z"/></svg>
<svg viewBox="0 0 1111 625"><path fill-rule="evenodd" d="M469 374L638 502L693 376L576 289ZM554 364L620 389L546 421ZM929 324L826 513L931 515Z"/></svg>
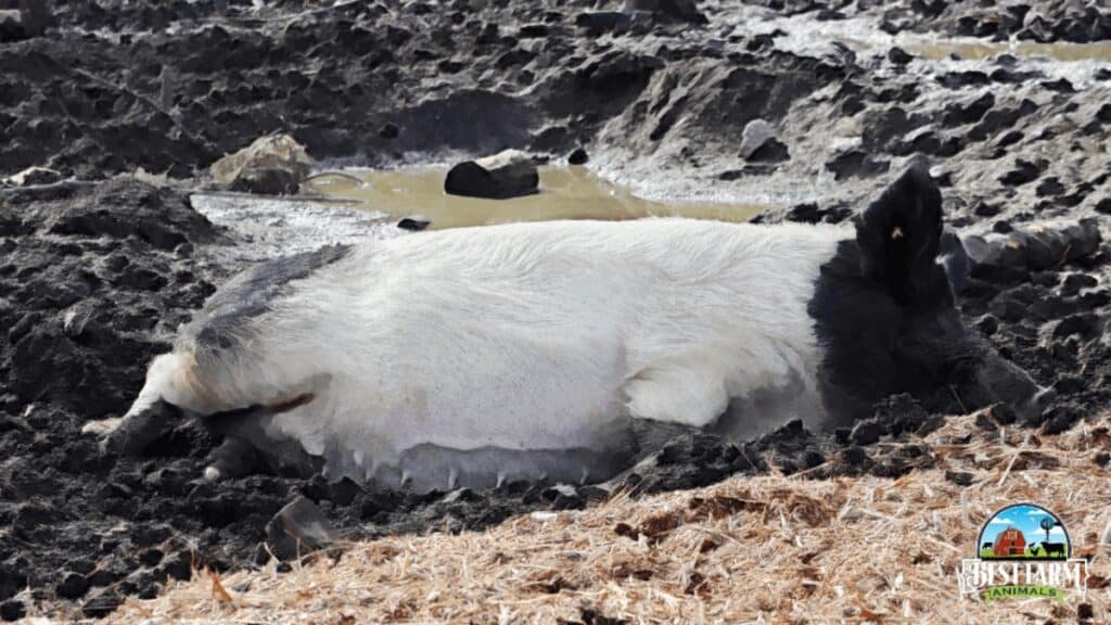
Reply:
<svg viewBox="0 0 1111 625"><path fill-rule="evenodd" d="M601 480L644 431L829 429L895 393L1037 418L1051 393L961 319L941 204L919 166L840 226L512 224L263 262L90 431L137 453L188 415L232 445L213 479L254 450L429 490Z"/></svg>

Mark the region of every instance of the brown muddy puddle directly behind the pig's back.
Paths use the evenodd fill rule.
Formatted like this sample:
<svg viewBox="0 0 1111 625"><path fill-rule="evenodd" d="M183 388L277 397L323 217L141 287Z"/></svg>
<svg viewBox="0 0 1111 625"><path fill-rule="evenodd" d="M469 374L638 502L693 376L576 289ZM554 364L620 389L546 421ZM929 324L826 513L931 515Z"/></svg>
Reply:
<svg viewBox="0 0 1111 625"><path fill-rule="evenodd" d="M302 192L353 200L357 206L394 218L420 215L432 228L459 228L510 221L552 219L637 219L682 216L748 221L767 205L652 201L613 185L585 167L540 168L540 192L504 200L449 196L447 168L346 170L323 172L302 185Z"/></svg>

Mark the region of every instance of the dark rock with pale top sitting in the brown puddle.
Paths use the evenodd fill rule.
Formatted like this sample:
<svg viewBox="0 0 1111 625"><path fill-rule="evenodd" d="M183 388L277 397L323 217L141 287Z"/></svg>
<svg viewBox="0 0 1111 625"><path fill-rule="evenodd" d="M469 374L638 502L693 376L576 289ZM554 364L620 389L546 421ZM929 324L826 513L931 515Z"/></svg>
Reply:
<svg viewBox="0 0 1111 625"><path fill-rule="evenodd" d="M536 194L539 185L540 175L532 159L519 150L504 150L452 167L443 181L443 191L453 196L507 199Z"/></svg>

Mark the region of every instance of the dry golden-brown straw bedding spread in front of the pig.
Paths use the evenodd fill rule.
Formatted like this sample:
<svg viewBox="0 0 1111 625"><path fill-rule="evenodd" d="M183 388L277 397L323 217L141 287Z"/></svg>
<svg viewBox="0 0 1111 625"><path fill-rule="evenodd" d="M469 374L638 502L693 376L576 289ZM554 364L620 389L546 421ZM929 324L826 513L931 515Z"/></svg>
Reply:
<svg viewBox="0 0 1111 625"><path fill-rule="evenodd" d="M349 545L288 574L198 573L108 622L1108 622L1111 416L1045 437L977 418L927 438L939 468L894 480L733 478L481 534ZM959 597L954 569L981 524L1018 502L1064 520L1074 557L1091 559L1085 599Z"/></svg>

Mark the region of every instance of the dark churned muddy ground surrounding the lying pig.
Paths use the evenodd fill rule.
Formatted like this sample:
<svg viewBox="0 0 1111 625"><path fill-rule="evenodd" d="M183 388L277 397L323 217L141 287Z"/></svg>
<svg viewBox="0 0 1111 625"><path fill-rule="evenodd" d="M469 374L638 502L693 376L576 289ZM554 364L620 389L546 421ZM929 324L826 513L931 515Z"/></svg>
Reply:
<svg viewBox="0 0 1111 625"><path fill-rule="evenodd" d="M814 37L800 49L797 38L859 21L888 34L1082 42L1109 37L1098 2L116 4L67 3L41 34L0 30L0 177L59 172L0 190L3 618L29 603L92 617L193 564L248 566L298 494L352 537L482 527L599 496L526 484L413 496L279 475L206 484L217 442L190 425L144 458L102 456L81 425L127 408L148 358L238 268L220 250L246 245L181 190L117 175L202 186L211 161L273 131L331 165L504 147L560 160L584 148L591 166L649 192L759 192L782 204L768 221L838 221L922 155L962 234L1081 218L1111 232L1108 60L931 60L891 43L903 39L854 49ZM758 118L777 138L745 159ZM660 178L679 186L651 187ZM979 267L964 288L968 321L1060 393L1037 427L1111 407L1109 258L1103 244L1068 262ZM900 475L929 465L929 449L889 453L883 437L960 409L895 397L837 436L789 426L741 446L680 437L623 479L653 490L773 467Z"/></svg>

